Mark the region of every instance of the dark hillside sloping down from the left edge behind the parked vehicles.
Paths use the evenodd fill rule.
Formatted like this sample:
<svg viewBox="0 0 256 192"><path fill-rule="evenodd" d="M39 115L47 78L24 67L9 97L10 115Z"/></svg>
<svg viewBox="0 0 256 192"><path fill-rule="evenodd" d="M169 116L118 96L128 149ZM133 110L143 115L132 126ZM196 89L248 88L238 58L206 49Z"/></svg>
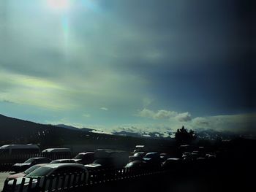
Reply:
<svg viewBox="0 0 256 192"><path fill-rule="evenodd" d="M104 134L90 128L75 128L66 125L45 125L0 115L0 146L5 144L39 144L41 147L90 146L111 148L132 148L135 145L166 146L161 138L139 138Z"/></svg>

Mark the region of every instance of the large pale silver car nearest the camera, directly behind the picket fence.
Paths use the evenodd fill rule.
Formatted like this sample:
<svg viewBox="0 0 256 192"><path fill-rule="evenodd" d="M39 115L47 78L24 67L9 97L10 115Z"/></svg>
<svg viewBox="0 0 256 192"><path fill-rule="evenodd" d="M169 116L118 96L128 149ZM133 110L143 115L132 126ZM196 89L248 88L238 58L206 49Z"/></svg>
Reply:
<svg viewBox="0 0 256 192"><path fill-rule="evenodd" d="M45 178L51 177L53 180L51 187L52 188L61 188L61 186L67 186L68 182L66 177L64 177L65 173L75 174L78 172L83 172L83 182L87 183L88 180L88 171L83 164L48 164L45 166L41 166L38 169L35 169L33 172L27 174L25 177L19 177L16 180L15 192L20 191L20 185L22 185L23 178L25 179L25 183L23 184L23 192L28 191L29 181L31 180L31 190L42 190L42 185L45 181ZM57 182L56 175L59 176L59 181ZM37 179L40 178L39 183L37 183ZM74 180L74 175L70 177L70 182L72 185L79 182L79 178L76 177ZM10 180L7 185L4 187L4 191L12 191L12 185L14 180ZM48 191L49 183L46 182L45 190ZM57 186L58 184L58 186ZM36 188L38 185L38 188Z"/></svg>

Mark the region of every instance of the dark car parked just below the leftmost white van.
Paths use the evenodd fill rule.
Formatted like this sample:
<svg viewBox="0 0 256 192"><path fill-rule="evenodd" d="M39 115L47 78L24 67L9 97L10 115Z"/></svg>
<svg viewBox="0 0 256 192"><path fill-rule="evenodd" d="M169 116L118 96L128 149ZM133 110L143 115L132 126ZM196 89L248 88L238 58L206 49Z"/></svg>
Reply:
<svg viewBox="0 0 256 192"><path fill-rule="evenodd" d="M49 164L50 158L43 158L43 157L37 157L37 158L29 158L27 161L21 164L14 164L12 166L12 171L14 172L23 172L26 169L29 169L29 167L34 166L36 164Z"/></svg>

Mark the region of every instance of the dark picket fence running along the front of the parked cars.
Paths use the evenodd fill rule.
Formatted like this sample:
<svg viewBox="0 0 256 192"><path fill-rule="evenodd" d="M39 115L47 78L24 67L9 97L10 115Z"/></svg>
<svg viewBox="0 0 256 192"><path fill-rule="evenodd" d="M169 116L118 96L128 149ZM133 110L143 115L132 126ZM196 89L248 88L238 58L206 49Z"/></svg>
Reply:
<svg viewBox="0 0 256 192"><path fill-rule="evenodd" d="M157 169L99 169L94 172L76 172L59 174L56 177L38 177L37 179L6 180L3 192L24 191L82 191L85 188L121 180L132 180L138 177L146 177L154 174L164 174L168 170ZM89 176L89 177L88 177Z"/></svg>

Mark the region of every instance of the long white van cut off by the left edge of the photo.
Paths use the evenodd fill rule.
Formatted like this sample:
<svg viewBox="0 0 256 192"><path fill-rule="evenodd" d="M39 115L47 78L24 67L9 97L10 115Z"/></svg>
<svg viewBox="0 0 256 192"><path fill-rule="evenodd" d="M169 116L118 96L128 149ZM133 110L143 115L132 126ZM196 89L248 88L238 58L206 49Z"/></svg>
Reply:
<svg viewBox="0 0 256 192"><path fill-rule="evenodd" d="M0 155L36 154L40 153L38 145L3 145L0 147Z"/></svg>

